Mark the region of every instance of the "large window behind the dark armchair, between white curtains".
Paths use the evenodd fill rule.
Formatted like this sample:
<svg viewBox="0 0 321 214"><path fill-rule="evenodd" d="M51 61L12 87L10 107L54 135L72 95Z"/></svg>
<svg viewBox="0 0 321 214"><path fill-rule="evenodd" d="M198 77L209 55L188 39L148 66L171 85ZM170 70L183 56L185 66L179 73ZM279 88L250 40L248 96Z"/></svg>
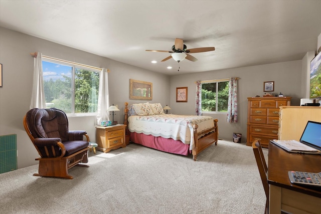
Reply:
<svg viewBox="0 0 321 214"><path fill-rule="evenodd" d="M42 66L47 108L66 114L97 113L98 69L45 58Z"/></svg>

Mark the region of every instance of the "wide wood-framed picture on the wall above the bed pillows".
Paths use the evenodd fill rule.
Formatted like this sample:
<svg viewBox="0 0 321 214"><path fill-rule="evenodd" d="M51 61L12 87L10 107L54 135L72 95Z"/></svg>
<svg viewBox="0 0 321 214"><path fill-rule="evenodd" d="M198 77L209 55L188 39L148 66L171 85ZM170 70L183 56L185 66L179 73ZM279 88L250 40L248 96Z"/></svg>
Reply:
<svg viewBox="0 0 321 214"><path fill-rule="evenodd" d="M130 79L129 99L152 100L152 83Z"/></svg>

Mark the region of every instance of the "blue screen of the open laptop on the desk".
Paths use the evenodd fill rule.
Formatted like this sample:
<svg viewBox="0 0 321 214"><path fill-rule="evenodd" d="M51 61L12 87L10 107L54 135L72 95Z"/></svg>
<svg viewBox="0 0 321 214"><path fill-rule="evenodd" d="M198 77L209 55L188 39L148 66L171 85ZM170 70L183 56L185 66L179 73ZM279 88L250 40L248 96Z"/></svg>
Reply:
<svg viewBox="0 0 321 214"><path fill-rule="evenodd" d="M300 142L321 149L321 123L307 121Z"/></svg>

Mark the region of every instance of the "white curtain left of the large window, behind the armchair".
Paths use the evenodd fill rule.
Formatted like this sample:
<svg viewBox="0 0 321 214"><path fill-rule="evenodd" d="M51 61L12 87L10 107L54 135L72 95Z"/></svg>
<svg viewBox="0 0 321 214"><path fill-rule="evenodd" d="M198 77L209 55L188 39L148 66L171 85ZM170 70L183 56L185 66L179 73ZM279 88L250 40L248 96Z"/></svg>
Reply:
<svg viewBox="0 0 321 214"><path fill-rule="evenodd" d="M34 59L34 81L32 87L30 109L46 108L43 71L42 71L42 54L38 53Z"/></svg>

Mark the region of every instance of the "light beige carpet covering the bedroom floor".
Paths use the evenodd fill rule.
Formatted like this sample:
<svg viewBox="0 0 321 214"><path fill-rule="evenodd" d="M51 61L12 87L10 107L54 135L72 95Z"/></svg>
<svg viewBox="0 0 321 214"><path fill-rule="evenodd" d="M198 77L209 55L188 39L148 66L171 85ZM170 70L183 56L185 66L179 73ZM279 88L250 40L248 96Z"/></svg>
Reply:
<svg viewBox="0 0 321 214"><path fill-rule="evenodd" d="M267 154L267 149L264 149ZM1 213L264 213L252 147L219 140L192 156L137 144L90 152L74 179L33 176L38 165L0 174Z"/></svg>

